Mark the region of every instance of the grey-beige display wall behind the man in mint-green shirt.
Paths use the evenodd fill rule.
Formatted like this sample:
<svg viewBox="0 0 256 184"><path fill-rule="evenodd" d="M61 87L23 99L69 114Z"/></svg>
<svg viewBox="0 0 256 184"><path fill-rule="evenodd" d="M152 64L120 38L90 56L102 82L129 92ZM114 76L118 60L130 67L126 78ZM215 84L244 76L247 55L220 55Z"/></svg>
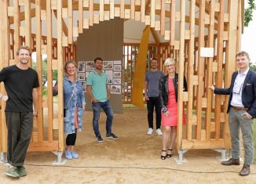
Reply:
<svg viewBox="0 0 256 184"><path fill-rule="evenodd" d="M112 27L115 27L113 29ZM123 60L123 20L104 21L79 34L78 60L92 61L97 56L103 60ZM86 109L91 110L90 97L86 93ZM122 95L111 94L115 113L122 113Z"/></svg>

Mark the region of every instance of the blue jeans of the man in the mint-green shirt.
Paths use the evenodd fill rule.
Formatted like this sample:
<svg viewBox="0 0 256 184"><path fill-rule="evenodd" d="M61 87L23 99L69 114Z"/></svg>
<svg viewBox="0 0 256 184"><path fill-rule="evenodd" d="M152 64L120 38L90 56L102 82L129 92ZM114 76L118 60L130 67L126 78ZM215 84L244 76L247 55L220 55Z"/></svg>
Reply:
<svg viewBox="0 0 256 184"><path fill-rule="evenodd" d="M101 108L104 110L104 113L107 116L106 120L106 131L107 134L112 133L112 121L113 121L113 110L110 102L107 100L104 103L97 102L92 103L93 106L93 130L95 135L101 135L99 131L99 119L101 114Z"/></svg>

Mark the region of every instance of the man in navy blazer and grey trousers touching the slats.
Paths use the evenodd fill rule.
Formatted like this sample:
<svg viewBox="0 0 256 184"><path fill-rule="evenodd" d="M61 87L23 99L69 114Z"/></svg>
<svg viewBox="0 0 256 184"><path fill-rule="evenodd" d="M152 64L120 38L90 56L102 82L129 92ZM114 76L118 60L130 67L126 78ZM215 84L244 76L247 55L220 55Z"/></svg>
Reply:
<svg viewBox="0 0 256 184"><path fill-rule="evenodd" d="M250 56L247 52L236 54L239 70L232 74L229 88L210 88L215 94L229 95L229 131L232 142L232 157L222 161L223 165L240 165L240 128L243 134L244 164L240 175L250 174L254 161L253 118L256 117L256 72L249 68Z"/></svg>

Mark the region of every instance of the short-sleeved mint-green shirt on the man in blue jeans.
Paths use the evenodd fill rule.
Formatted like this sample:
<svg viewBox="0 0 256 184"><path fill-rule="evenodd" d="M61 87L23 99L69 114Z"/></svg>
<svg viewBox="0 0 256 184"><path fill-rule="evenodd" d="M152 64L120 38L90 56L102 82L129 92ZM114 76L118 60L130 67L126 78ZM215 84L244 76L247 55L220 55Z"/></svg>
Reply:
<svg viewBox="0 0 256 184"><path fill-rule="evenodd" d="M86 85L91 85L92 93L97 101L104 103L107 101L108 93L106 85L108 84L108 75L104 72L98 74L96 70L93 70L88 75Z"/></svg>

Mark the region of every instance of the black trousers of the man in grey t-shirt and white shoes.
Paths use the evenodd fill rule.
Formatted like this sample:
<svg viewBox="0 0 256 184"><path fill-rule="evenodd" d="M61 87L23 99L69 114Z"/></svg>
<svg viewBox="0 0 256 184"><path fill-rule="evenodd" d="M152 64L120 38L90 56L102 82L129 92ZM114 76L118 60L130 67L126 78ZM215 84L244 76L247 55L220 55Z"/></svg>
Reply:
<svg viewBox="0 0 256 184"><path fill-rule="evenodd" d="M153 128L153 114L155 106L155 122L156 129L161 127L161 108L159 103L159 97L149 97L147 100L147 109L148 109L148 127Z"/></svg>

